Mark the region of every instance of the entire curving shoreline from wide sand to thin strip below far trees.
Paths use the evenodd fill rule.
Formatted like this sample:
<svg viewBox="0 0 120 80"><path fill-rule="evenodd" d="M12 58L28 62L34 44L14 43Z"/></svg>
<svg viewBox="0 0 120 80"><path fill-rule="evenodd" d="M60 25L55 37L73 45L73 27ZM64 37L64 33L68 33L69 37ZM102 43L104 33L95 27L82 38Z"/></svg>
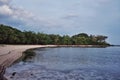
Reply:
<svg viewBox="0 0 120 80"><path fill-rule="evenodd" d="M0 45L0 65L8 67L19 59L24 51L42 47L80 47L80 48L105 48L106 45Z"/></svg>

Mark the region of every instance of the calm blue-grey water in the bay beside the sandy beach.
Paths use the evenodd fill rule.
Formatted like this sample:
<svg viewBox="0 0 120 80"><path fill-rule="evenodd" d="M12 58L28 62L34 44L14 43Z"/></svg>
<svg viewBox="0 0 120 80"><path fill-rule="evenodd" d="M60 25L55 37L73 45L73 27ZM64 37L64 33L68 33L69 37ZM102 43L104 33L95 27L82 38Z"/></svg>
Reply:
<svg viewBox="0 0 120 80"><path fill-rule="evenodd" d="M9 67L11 80L120 80L120 47L39 48ZM12 74L15 72L15 75Z"/></svg>

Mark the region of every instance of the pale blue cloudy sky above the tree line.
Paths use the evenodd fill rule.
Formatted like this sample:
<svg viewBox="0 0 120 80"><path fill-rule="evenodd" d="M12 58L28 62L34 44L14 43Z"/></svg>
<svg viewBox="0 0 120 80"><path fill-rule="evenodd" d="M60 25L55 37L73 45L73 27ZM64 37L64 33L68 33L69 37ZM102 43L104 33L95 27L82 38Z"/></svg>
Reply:
<svg viewBox="0 0 120 80"><path fill-rule="evenodd" d="M120 44L120 0L0 0L0 24L48 34L105 35Z"/></svg>

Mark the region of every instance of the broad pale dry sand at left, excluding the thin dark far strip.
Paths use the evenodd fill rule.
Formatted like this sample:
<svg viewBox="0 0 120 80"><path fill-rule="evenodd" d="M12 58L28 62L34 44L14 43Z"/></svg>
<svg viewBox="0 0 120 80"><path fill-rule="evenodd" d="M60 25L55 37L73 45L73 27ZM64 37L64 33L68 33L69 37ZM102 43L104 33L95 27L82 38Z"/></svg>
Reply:
<svg viewBox="0 0 120 80"><path fill-rule="evenodd" d="M22 52L40 47L55 47L55 45L1 45L0 65L8 67L22 56Z"/></svg>

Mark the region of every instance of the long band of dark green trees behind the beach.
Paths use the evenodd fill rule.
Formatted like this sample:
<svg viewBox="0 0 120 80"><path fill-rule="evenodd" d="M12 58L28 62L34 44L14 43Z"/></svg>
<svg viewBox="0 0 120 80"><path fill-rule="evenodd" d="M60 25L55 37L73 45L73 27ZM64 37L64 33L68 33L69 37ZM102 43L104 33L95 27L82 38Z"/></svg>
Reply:
<svg viewBox="0 0 120 80"><path fill-rule="evenodd" d="M104 35L80 33L73 36L21 31L0 24L0 44L40 44L40 45L109 45Z"/></svg>

